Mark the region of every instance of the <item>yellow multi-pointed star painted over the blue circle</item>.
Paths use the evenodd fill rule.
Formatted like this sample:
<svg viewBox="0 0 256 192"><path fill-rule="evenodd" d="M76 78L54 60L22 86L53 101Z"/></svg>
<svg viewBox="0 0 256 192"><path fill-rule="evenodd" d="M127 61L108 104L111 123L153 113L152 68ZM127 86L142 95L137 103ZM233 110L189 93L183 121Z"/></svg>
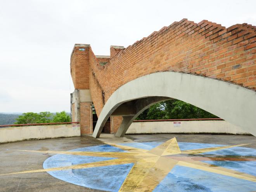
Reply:
<svg viewBox="0 0 256 192"><path fill-rule="evenodd" d="M107 143L109 144L109 143ZM69 154L79 156L96 156L96 157L112 157L116 159L98 161L93 163L77 164L72 166L64 166L58 168L21 171L17 173L7 173L2 175L20 174L20 173L36 173L45 171L57 171L67 169L84 169L91 167L109 166L117 164L133 163L133 167L128 173L125 181L120 187L120 192L128 191L152 191L166 177L175 165L185 166L198 170L204 170L220 175L232 176L251 182L256 182L256 177L246 173L230 170L223 167L213 166L201 161L255 161L253 157L204 157L198 156L204 152L214 150L228 149L242 145L231 145L222 147L211 147L204 149L180 150L176 138L172 138L161 145L151 149L138 149L118 144L109 144L113 147L118 147L126 152L80 152L80 151L37 151L37 150L21 150L25 152L40 152L50 154Z"/></svg>

